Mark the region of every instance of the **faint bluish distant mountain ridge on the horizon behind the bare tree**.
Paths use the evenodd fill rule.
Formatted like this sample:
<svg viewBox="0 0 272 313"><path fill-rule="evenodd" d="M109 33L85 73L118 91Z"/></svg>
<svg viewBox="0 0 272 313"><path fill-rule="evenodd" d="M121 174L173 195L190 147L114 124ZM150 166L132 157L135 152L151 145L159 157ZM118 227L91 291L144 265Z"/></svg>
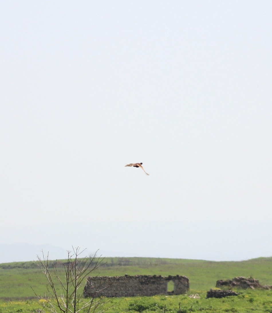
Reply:
<svg viewBox="0 0 272 313"><path fill-rule="evenodd" d="M72 249L72 246L68 248ZM68 250L67 249L67 250ZM84 248L83 248L84 249ZM82 250L83 250L82 249ZM10 262L25 262L25 261L33 261L37 260L37 255L42 257L42 250L44 255L48 255L50 260L56 259L66 259L67 258L67 250L55 247L51 244L0 244L0 263L10 263ZM89 251L86 249L81 256L93 255L96 251ZM97 255L102 257L105 256L121 256L120 252L113 251L104 251L98 250Z"/></svg>

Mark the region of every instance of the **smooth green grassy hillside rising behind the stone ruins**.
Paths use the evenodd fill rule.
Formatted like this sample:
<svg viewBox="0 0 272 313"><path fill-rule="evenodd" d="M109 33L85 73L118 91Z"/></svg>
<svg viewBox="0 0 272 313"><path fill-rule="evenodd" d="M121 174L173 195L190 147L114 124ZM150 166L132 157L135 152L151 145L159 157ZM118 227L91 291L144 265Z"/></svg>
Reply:
<svg viewBox="0 0 272 313"><path fill-rule="evenodd" d="M189 277L191 291L209 290L216 280L235 276L252 276L263 285L272 285L272 257L239 262L214 262L190 259L162 258L105 258L105 265L93 275L185 275ZM59 260L59 274L63 275ZM46 279L35 262L0 264L0 299L30 299L46 291Z"/></svg>

